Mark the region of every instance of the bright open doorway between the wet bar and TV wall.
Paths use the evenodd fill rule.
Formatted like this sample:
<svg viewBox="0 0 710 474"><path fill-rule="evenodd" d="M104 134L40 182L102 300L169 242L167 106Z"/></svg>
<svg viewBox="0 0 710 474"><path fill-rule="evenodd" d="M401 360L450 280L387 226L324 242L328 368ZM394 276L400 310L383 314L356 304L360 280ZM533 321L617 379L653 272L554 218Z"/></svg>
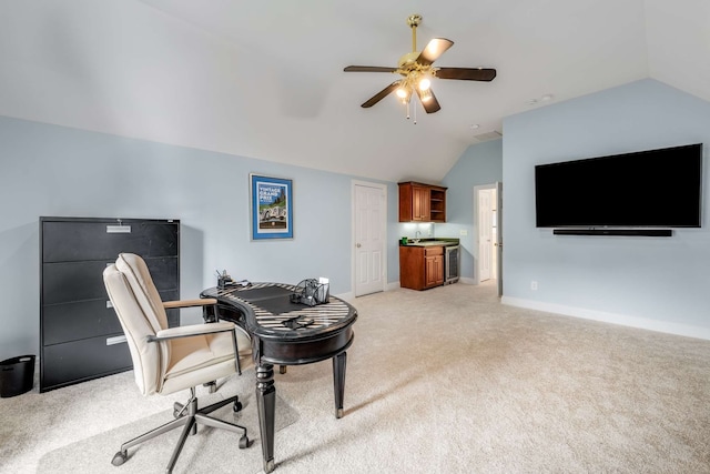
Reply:
<svg viewBox="0 0 710 474"><path fill-rule="evenodd" d="M495 182L474 188L474 228L476 284L497 284L503 295L503 184Z"/></svg>

